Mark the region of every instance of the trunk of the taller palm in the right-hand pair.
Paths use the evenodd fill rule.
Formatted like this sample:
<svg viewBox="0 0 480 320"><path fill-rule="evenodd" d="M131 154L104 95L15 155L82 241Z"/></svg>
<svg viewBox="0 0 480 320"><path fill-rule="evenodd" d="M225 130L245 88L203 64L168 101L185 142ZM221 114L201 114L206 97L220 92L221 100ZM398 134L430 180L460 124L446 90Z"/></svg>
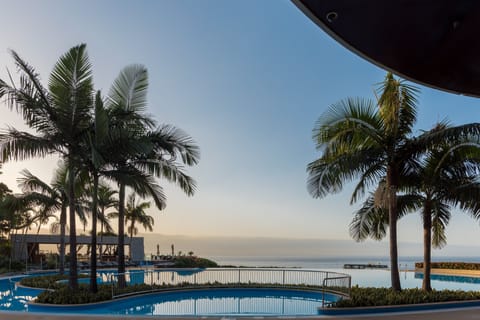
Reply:
<svg viewBox="0 0 480 320"><path fill-rule="evenodd" d="M391 165L387 168L387 191L388 191L388 223L390 233L390 278L392 289L401 291L400 273L398 270L398 246L397 246L397 190L396 176Z"/></svg>

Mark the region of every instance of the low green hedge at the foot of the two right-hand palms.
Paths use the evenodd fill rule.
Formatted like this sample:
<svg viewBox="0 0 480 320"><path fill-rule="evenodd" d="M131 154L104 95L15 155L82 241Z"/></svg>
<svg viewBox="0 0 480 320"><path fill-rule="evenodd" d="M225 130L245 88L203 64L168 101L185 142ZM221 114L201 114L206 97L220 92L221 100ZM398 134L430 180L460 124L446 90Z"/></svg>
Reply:
<svg viewBox="0 0 480 320"><path fill-rule="evenodd" d="M401 292L396 292L389 288L360 288L354 286L350 299L338 301L332 307L374 307L476 299L480 299L480 292L454 290L426 292L421 289L404 289Z"/></svg>

